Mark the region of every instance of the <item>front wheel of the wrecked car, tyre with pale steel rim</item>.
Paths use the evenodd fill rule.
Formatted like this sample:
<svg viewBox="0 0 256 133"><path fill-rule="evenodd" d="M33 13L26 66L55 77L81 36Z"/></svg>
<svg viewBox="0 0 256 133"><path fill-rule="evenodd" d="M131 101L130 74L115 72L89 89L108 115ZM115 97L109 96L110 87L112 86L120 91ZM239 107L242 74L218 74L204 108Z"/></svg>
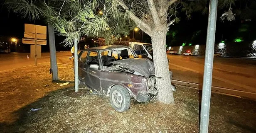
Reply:
<svg viewBox="0 0 256 133"><path fill-rule="evenodd" d="M118 112L126 111L130 107L129 92L120 85L115 85L111 88L109 98L111 105Z"/></svg>

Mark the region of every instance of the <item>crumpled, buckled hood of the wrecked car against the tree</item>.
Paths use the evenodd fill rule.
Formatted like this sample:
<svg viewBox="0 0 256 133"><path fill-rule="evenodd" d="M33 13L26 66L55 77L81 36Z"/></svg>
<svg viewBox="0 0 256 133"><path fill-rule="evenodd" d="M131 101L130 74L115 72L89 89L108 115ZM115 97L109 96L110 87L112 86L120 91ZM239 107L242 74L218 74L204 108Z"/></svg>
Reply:
<svg viewBox="0 0 256 133"><path fill-rule="evenodd" d="M112 63L134 70L147 78L150 75L155 75L154 63L148 59L128 58L113 61Z"/></svg>

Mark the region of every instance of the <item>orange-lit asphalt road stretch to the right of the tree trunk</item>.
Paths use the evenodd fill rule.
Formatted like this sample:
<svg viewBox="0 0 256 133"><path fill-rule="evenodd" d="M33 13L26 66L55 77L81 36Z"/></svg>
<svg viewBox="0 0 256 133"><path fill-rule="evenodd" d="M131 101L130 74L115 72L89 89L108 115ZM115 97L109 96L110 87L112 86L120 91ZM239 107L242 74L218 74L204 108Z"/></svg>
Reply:
<svg viewBox="0 0 256 133"><path fill-rule="evenodd" d="M173 80L202 84L204 56L167 55L167 58ZM214 91L256 99L256 59L214 58L212 77Z"/></svg>

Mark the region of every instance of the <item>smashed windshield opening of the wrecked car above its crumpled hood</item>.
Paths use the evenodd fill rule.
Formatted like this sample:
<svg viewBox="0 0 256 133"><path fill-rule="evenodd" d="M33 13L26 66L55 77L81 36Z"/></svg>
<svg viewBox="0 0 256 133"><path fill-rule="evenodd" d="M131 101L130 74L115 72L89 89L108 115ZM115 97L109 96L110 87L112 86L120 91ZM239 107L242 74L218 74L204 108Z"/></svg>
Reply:
<svg viewBox="0 0 256 133"><path fill-rule="evenodd" d="M136 58L130 48L118 48L101 52L101 60L105 68L111 66L113 61L126 58Z"/></svg>

